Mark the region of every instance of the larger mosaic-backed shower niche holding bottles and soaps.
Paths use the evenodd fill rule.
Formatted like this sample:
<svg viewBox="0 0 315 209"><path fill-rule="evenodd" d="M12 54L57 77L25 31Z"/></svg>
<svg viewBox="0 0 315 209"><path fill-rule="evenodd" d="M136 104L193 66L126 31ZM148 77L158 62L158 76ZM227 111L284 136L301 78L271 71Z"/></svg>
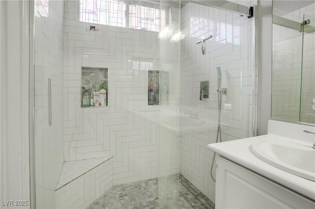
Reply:
<svg viewBox="0 0 315 209"><path fill-rule="evenodd" d="M81 107L108 106L108 68L82 67Z"/></svg>

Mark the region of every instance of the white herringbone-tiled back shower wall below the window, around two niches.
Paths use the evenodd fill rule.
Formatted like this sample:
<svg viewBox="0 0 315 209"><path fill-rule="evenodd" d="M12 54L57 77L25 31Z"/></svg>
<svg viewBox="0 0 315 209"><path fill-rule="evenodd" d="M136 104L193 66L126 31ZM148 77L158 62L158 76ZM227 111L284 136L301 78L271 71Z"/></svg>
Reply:
<svg viewBox="0 0 315 209"><path fill-rule="evenodd" d="M163 121L179 123L180 45L159 40L158 32L79 22L70 3L64 1L64 160L113 156L114 185L156 178L163 109L177 115ZM109 106L80 108L81 66L109 68ZM148 70L169 72L169 104L148 106ZM169 153L163 173L173 174L179 169L179 128L164 132L174 145L163 145Z"/></svg>

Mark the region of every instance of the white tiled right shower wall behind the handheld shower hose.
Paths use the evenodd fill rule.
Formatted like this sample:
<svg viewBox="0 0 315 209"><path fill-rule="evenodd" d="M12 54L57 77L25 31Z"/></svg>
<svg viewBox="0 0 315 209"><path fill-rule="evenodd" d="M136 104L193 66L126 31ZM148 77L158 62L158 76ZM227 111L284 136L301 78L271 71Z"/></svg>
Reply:
<svg viewBox="0 0 315 209"><path fill-rule="evenodd" d="M236 3L251 6L257 1ZM180 172L212 201L215 201L215 183L210 177L213 152L207 145L216 142L217 67L221 67L221 86L227 88L227 94L222 95L222 141L252 136L253 21L195 3L181 9L181 29L186 37L181 41ZM203 55L201 44L195 42L210 35L213 38L205 41ZM205 80L209 80L209 98L200 101L200 81Z"/></svg>

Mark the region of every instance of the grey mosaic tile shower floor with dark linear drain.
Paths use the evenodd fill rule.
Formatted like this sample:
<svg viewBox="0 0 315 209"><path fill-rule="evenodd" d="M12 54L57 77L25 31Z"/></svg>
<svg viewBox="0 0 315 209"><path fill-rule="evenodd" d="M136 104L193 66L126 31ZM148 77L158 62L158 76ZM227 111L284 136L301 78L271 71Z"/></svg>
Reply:
<svg viewBox="0 0 315 209"><path fill-rule="evenodd" d="M177 179L178 175L171 175L116 185L96 199L87 209L215 208L215 204L184 176L180 174L179 181Z"/></svg>

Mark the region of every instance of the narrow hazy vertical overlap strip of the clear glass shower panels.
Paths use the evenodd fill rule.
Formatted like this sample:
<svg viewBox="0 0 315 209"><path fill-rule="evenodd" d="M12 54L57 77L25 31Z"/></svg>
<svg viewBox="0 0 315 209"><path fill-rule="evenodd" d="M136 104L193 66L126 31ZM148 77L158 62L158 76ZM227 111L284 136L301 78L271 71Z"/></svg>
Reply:
<svg viewBox="0 0 315 209"><path fill-rule="evenodd" d="M163 1L161 1L161 6ZM180 208L180 1L167 8L168 25L159 32L158 207ZM150 105L153 106L153 105Z"/></svg>

